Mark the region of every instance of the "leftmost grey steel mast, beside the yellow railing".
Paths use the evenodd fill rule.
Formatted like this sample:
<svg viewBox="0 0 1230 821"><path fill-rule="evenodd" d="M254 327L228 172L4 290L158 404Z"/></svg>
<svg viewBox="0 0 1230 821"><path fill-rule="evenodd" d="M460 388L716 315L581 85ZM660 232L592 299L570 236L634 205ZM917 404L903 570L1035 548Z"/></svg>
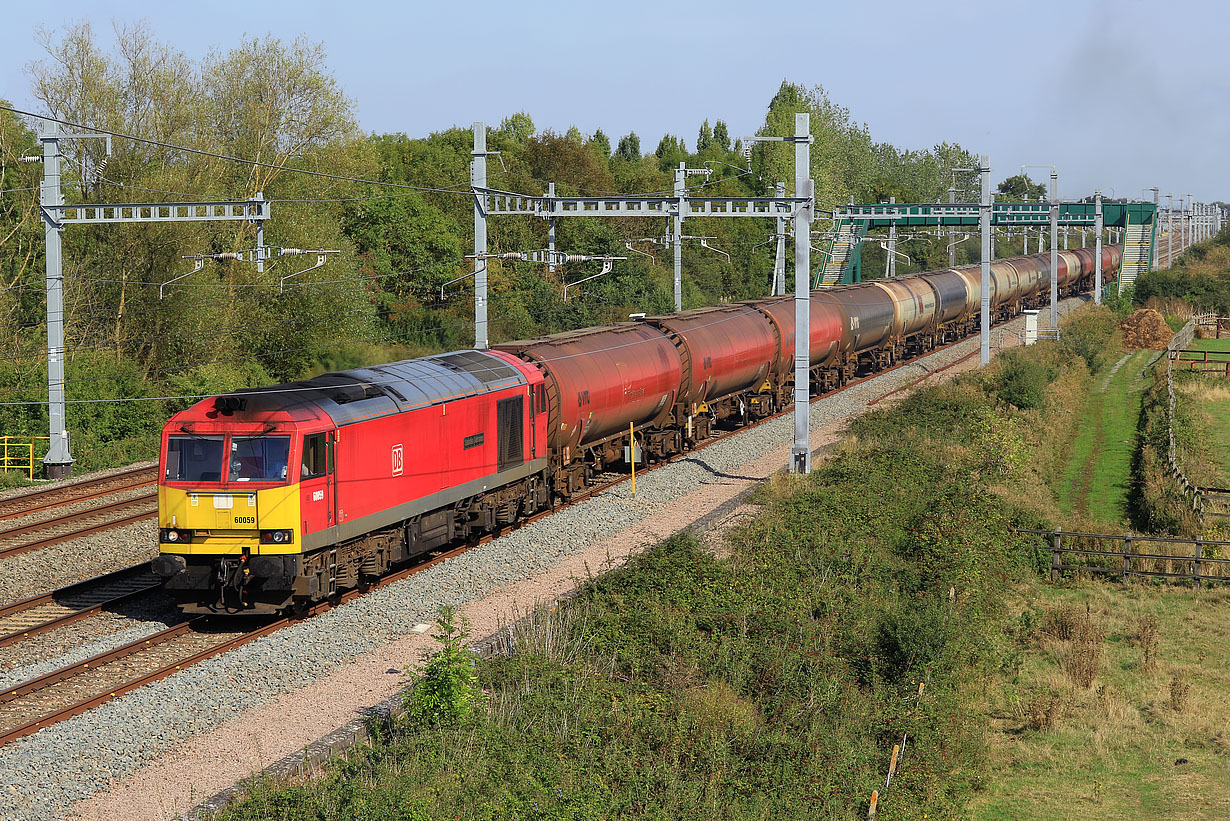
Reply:
<svg viewBox="0 0 1230 821"><path fill-rule="evenodd" d="M43 471L48 479L66 479L73 475L73 453L69 448L69 431L64 422L64 267L60 245L59 213L64 204L60 190L60 124L43 121L43 185L38 202L43 213L43 239L47 242L47 400L50 422L50 447L43 457Z"/></svg>

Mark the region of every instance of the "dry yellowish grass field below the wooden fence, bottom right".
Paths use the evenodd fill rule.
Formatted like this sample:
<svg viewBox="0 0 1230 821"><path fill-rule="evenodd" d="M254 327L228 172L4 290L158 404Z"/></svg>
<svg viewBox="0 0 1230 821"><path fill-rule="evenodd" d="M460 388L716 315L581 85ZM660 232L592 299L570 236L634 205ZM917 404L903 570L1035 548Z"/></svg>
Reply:
<svg viewBox="0 0 1230 821"><path fill-rule="evenodd" d="M988 688L993 772L969 817L1230 817L1228 604L1225 587L1031 586L1020 668ZM1086 607L1092 640L1063 639Z"/></svg>

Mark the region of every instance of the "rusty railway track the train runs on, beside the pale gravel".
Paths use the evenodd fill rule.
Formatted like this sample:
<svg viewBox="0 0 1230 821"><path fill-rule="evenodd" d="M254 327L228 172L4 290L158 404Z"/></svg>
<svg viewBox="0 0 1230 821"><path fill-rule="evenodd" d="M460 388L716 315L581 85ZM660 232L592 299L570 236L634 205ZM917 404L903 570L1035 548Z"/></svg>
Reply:
<svg viewBox="0 0 1230 821"><path fill-rule="evenodd" d="M882 370L859 377L836 390L813 396L811 401L817 402L822 399L846 390L847 388L867 382L868 379L873 379L908 364L916 363L934 353L947 350L953 345L959 345L963 341L966 340L958 340L956 342L938 346L919 357L913 357ZM963 359L959 359L958 362ZM932 373L945 370L947 367L940 368ZM927 377L930 375L932 374L927 374ZM907 385L907 388L908 386L909 385ZM886 394L886 396L888 394ZM883 399L883 396L881 396L881 399ZM763 425L768 421L792 412L793 409L787 407L786 410L780 411L774 416L765 417L754 425L733 431L722 431L720 435L713 436L688 453L676 454L667 462L657 465L647 465L646 471L653 470L669 462L686 459L691 454L702 451L711 444L716 444L737 432L755 427L756 425ZM563 507L571 507L572 505L585 501L587 499L604 492L615 485L629 481L631 476L627 474L606 471L601 474L601 484L592 486L583 494L578 494L563 505L540 511L539 513L528 517L524 522L515 527L535 522L546 516L551 516ZM349 602L367 593L369 590L376 590L407 579L408 576L421 572L439 561L460 555L478 544L486 544L487 542L498 538L498 535L499 533L490 533L478 539L475 545L461 545L453 548L451 550L439 553L427 561L390 574L369 587L351 590L342 593L335 601L321 602L303 614L266 622L251 630L234 629L235 619L228 620L224 617L215 615L198 617L172 628L167 628L166 630L145 639L140 639L116 650L87 659L86 661L70 665L46 676L18 684L5 691L4 693L0 693L0 745L5 745L10 741L38 732L47 726L74 715L80 715L81 713L93 709L95 707L129 693L138 687L166 678L186 667L204 661L205 659L214 657L240 645L255 641L261 636L269 635L271 633L304 618L310 618L316 613ZM2 533L0 533L0 537L2 537ZM0 615L2 615L2 613L0 613ZM242 624L248 625L251 624L251 617L245 617L242 619Z"/></svg>

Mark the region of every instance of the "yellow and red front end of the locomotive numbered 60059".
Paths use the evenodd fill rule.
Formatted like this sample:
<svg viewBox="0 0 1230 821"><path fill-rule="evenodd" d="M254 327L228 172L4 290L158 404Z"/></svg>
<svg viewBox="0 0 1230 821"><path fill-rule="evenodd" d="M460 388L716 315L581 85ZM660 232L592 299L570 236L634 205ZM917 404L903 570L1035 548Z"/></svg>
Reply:
<svg viewBox="0 0 1230 821"><path fill-rule="evenodd" d="M188 613L280 612L301 567L301 437L294 422L192 419L194 410L162 435L154 572Z"/></svg>

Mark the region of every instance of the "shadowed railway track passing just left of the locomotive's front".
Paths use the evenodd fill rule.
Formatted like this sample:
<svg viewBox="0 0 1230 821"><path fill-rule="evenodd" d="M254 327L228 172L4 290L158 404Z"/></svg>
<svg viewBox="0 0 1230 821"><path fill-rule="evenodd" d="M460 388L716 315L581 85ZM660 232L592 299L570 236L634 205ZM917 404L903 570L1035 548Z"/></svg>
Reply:
<svg viewBox="0 0 1230 821"><path fill-rule="evenodd" d="M132 602L160 586L149 565L138 565L0 607L0 647Z"/></svg>

